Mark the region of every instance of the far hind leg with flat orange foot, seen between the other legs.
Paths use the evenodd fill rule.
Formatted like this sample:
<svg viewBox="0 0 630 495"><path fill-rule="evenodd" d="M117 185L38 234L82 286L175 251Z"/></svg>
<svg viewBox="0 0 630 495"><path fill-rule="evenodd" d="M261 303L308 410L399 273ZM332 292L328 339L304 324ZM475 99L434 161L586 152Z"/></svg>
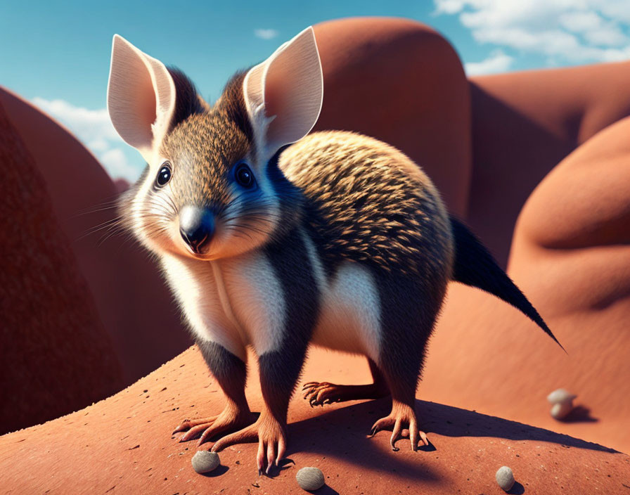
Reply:
<svg viewBox="0 0 630 495"><path fill-rule="evenodd" d="M390 393L383 373L376 363L368 358L373 383L368 385L335 385L328 382L309 382L302 387L304 399L311 407L332 404L333 402L355 401L360 399L380 399Z"/></svg>

